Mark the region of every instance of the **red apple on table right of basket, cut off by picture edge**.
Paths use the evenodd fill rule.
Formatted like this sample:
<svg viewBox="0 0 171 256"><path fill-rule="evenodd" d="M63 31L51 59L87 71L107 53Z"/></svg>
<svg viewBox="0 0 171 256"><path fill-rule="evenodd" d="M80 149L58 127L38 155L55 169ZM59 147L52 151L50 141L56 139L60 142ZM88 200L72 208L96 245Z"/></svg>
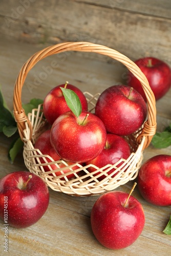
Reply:
<svg viewBox="0 0 171 256"><path fill-rule="evenodd" d="M147 202L171 205L171 156L157 155L148 159L139 170L137 184Z"/></svg>

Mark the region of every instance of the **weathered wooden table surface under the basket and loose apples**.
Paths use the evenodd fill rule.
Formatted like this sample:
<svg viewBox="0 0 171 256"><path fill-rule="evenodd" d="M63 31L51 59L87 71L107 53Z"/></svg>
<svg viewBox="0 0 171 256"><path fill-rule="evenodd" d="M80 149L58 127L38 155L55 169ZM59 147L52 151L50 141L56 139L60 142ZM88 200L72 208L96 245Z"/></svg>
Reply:
<svg viewBox="0 0 171 256"><path fill-rule="evenodd" d="M24 62L36 51L44 48L42 45L29 45L10 39L1 39L0 43L0 83L9 108L12 110L13 86L19 69ZM53 69L51 75L42 80L35 88L29 84L48 67L52 60L59 63L58 69ZM68 80L82 91L92 94L102 92L105 88L118 84L125 74L125 68L118 62L106 62L80 57L75 52L63 54L62 58L51 56L42 60L28 75L22 101L27 103L31 98L44 98L51 88ZM157 130L168 125L170 113L171 90L157 106ZM20 153L15 162L8 161L8 148L11 140L0 134L0 178L17 170L26 170L23 155ZM170 154L170 147L157 150L150 145L144 151L144 160L158 154ZM118 190L129 193L133 181L118 187ZM45 215L34 225L25 229L9 227L10 255L171 255L171 237L162 232L171 214L170 207L157 207L144 201L136 187L133 196L143 205L145 226L137 241L122 250L109 250L98 243L94 237L90 214L94 197L71 197L49 189L50 203ZM3 222L1 221L1 224ZM0 254L6 255L3 248L4 231L0 229Z"/></svg>

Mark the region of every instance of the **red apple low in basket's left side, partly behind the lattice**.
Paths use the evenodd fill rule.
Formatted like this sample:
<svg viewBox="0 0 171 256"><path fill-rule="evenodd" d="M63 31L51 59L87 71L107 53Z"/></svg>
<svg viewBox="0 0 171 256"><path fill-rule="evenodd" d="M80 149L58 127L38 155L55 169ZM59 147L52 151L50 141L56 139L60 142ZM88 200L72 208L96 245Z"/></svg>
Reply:
<svg viewBox="0 0 171 256"><path fill-rule="evenodd" d="M38 150L41 152L42 155L48 155L50 156L54 161L59 161L61 160L61 158L59 157L59 155L56 153L56 151L54 150L54 148L52 147L51 145L51 142L50 142L50 133L51 133L51 130L47 130L45 131L44 133L42 133L38 139L36 140L35 142L35 145L34 145L34 148L38 148ZM42 158L42 157L39 157L39 160L40 160L40 163L45 163L45 160ZM70 166L74 163L72 162L66 162L66 164L64 164L62 161L59 162L57 164L57 166L53 163L51 163L52 161L46 157L46 160L48 163L50 163L49 165L51 166L51 168L53 170L56 170L55 172L55 175L56 176L60 176L62 175L61 171L58 171L57 168L62 168L62 167L66 167L68 165L68 168L66 169L63 169L62 172L64 174L67 174L69 172L71 172L71 170L76 170L79 168L78 165L75 165L72 167L72 169L70 168ZM49 168L48 164L47 165L43 165L43 168L45 170L45 172L49 172L51 169ZM78 172L77 172L78 174ZM50 174L52 175L52 174ZM69 174L66 176L68 179L72 179L75 177L74 173L72 174ZM64 178L60 178L61 180L64 180Z"/></svg>

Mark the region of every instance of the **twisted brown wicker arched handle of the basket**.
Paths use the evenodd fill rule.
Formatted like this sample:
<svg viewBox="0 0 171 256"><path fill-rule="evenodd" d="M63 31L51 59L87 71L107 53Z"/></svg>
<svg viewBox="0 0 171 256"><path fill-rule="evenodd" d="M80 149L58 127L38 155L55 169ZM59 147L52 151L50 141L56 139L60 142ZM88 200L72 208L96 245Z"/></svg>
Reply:
<svg viewBox="0 0 171 256"><path fill-rule="evenodd" d="M119 53L118 51L105 47L102 45L93 44L91 42L64 42L54 46L47 47L33 54L20 69L14 85L13 96L13 113L15 121L17 122L18 132L20 138L24 137L24 130L26 129L25 122L28 122L30 129L30 139L32 136L32 124L29 121L24 109L22 108L22 88L29 71L36 65L36 63L45 57L65 51L80 51L80 52L95 52L102 55L109 56L115 60L120 61L131 73L138 78L144 90L147 99L148 118L145 121L140 135L137 137L137 142L140 143L143 136L145 136L143 149L146 148L151 142L156 133L156 100L155 96L149 87L149 83L145 75L139 67L128 57Z"/></svg>

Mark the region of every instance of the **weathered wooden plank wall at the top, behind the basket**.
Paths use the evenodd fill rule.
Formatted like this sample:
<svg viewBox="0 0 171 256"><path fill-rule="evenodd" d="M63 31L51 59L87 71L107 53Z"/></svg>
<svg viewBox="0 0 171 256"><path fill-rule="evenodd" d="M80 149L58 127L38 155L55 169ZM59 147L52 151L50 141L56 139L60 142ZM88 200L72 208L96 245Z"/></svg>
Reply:
<svg viewBox="0 0 171 256"><path fill-rule="evenodd" d="M153 55L171 65L170 0L1 0L0 25L9 39L91 41L132 60Z"/></svg>

